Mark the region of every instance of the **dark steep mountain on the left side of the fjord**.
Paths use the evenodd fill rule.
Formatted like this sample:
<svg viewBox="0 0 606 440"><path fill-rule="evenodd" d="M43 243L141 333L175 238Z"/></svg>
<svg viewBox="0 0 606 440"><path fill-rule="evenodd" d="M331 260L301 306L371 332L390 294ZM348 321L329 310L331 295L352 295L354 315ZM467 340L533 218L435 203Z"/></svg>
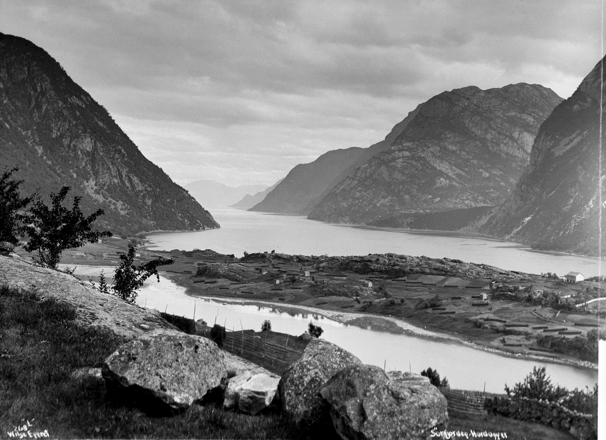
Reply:
<svg viewBox="0 0 606 440"><path fill-rule="evenodd" d="M115 234L218 228L212 215L141 154L110 114L42 48L0 33L0 168L22 192L72 187L95 226Z"/></svg>

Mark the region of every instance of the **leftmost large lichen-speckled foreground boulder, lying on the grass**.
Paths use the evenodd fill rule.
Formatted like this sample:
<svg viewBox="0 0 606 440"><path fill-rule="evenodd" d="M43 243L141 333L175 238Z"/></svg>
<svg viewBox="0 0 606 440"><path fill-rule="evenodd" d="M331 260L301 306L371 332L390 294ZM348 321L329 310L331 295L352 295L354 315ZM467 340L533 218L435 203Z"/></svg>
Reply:
<svg viewBox="0 0 606 440"><path fill-rule="evenodd" d="M108 392L156 415L202 401L227 376L213 341L176 330L153 330L118 348L102 367Z"/></svg>

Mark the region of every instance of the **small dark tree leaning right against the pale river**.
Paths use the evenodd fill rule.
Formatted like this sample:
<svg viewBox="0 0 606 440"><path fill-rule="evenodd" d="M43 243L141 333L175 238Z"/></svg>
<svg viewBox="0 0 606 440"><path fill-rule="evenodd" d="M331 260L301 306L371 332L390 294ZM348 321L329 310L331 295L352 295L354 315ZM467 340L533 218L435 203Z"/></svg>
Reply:
<svg viewBox="0 0 606 440"><path fill-rule="evenodd" d="M108 287L107 291L111 289L112 294L122 298L122 300L128 303L134 303L137 298L137 290L145 283L147 278L151 275L156 275L158 282L160 282L160 275L158 274L158 267L165 266L166 264L173 264L173 260L168 258L158 258L157 260L148 261L141 266L135 266L133 261L135 260L135 247L128 245L128 253L120 254L120 266L114 271L114 281L112 286ZM105 279L102 278L102 283ZM107 284L106 284L107 286Z"/></svg>

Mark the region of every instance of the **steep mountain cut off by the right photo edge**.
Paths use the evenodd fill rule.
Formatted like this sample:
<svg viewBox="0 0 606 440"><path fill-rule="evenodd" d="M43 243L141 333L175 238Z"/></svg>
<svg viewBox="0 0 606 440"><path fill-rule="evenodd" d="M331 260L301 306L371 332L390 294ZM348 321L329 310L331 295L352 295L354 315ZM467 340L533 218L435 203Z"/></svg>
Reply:
<svg viewBox="0 0 606 440"><path fill-rule="evenodd" d="M530 165L481 232L526 241L539 249L598 254L600 121L606 126L600 103L604 62L598 62L542 123ZM602 155L604 151L602 146Z"/></svg>

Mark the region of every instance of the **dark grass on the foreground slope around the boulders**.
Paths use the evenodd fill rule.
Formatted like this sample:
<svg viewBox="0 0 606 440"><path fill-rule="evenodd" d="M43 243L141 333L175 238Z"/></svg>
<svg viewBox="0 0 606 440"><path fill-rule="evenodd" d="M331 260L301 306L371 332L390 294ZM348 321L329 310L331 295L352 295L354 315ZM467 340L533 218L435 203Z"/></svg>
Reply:
<svg viewBox="0 0 606 440"><path fill-rule="evenodd" d="M153 418L105 395L103 381L74 376L98 367L123 340L78 326L76 311L54 298L0 286L0 438L24 421L51 438L327 438L302 433L277 414L247 416L194 406ZM450 416L448 430L507 432L508 438L570 439L539 424L499 416Z"/></svg>

